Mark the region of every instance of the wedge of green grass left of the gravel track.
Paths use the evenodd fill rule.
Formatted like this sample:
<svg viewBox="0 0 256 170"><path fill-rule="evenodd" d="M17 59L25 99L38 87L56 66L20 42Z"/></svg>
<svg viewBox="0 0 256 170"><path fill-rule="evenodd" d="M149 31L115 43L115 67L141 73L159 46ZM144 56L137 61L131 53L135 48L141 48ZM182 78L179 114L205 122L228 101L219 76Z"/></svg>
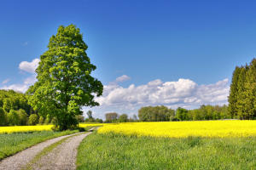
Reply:
<svg viewBox="0 0 256 170"><path fill-rule="evenodd" d="M64 132L41 131L0 134L0 161L5 157L12 156L20 150L25 150L26 148L47 139L53 139L59 136L78 132L78 130L73 130Z"/></svg>

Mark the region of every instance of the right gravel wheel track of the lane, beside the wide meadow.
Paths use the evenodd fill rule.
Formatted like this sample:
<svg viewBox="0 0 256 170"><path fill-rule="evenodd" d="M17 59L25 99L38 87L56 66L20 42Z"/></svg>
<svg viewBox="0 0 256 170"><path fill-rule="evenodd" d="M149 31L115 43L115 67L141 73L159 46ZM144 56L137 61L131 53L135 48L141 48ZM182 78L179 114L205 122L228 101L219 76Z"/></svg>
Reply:
<svg viewBox="0 0 256 170"><path fill-rule="evenodd" d="M82 133L65 140L62 144L55 147L47 155L43 156L32 169L52 170L52 169L76 169L76 158L80 142L90 133Z"/></svg>

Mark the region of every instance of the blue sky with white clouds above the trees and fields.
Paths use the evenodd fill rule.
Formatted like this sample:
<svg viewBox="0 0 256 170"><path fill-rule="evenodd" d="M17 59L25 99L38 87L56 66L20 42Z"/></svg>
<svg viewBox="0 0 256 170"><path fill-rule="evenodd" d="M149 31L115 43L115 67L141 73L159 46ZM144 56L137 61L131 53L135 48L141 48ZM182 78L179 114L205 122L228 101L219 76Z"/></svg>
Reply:
<svg viewBox="0 0 256 170"><path fill-rule="evenodd" d="M34 81L29 62L58 26L74 24L106 89L95 116L223 105L235 66L256 54L255 8L253 1L1 1L0 88L25 91Z"/></svg>

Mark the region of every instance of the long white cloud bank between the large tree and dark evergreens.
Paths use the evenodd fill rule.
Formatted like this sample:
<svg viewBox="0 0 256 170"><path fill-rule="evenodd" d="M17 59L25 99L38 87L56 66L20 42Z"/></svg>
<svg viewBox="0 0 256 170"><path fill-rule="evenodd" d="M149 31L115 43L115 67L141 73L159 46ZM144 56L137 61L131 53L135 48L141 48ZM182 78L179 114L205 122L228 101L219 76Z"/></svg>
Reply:
<svg viewBox="0 0 256 170"><path fill-rule="evenodd" d="M103 95L96 98L101 106L92 111L104 118L105 111L132 115L146 105L166 105L173 109L179 106L193 109L200 105L224 105L228 103L229 90L228 79L207 85L198 85L182 78L177 82L161 82L157 79L140 86L131 84L128 88L109 84L104 86Z"/></svg>

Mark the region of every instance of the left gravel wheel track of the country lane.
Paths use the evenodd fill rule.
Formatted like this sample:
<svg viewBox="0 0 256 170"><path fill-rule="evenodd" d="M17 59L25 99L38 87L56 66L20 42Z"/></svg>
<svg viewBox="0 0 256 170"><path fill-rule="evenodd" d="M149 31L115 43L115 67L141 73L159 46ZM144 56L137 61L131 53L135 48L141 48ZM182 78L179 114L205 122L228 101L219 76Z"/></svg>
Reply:
<svg viewBox="0 0 256 170"><path fill-rule="evenodd" d="M32 158L36 156L39 152L44 150L45 147L49 146L50 144L54 144L55 142L58 142L61 139L67 138L68 136L73 136L75 134L61 136L55 139L49 139L40 144L36 144L31 148L22 150L19 153L15 154L14 156L10 156L6 159L3 159L3 161L0 161L0 170L20 170L26 167L26 164L32 161Z"/></svg>

